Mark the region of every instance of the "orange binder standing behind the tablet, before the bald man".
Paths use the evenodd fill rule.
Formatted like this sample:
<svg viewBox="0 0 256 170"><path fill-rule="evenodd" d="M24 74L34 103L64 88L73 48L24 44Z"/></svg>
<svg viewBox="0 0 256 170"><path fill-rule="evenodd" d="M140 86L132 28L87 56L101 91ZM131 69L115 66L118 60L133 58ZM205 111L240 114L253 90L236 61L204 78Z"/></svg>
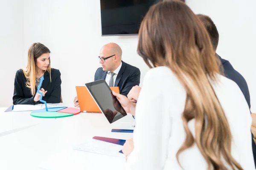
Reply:
<svg viewBox="0 0 256 170"><path fill-rule="evenodd" d="M110 87L119 94L119 87ZM76 86L76 94L80 105L80 111L86 113L102 113L85 86Z"/></svg>

